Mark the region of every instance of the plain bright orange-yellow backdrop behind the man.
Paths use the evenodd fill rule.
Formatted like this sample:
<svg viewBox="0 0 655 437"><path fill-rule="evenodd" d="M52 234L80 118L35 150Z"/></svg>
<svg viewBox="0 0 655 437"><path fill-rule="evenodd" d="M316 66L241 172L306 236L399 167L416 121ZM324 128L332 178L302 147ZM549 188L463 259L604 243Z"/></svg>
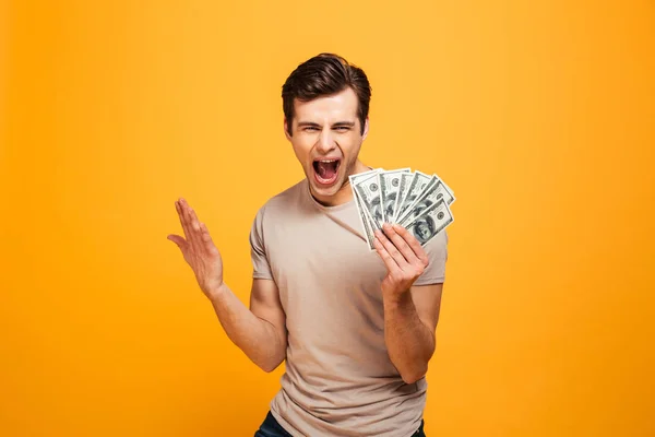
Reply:
<svg viewBox="0 0 655 437"><path fill-rule="evenodd" d="M302 177L281 86L335 51L366 164L455 191L428 436L653 436L655 3L14 1L0 7L0 435L252 436L283 367L178 248Z"/></svg>

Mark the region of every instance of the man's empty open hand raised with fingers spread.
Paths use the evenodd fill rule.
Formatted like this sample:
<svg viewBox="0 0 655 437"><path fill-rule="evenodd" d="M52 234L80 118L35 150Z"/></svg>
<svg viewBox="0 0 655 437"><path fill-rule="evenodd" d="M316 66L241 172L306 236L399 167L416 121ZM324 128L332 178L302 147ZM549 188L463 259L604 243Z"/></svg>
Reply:
<svg viewBox="0 0 655 437"><path fill-rule="evenodd" d="M187 201L179 199L175 202L175 208L187 239L175 234L168 235L167 238L180 248L184 260L195 274L200 288L205 296L212 298L223 285L221 253L214 245L206 225L198 220L195 211Z"/></svg>

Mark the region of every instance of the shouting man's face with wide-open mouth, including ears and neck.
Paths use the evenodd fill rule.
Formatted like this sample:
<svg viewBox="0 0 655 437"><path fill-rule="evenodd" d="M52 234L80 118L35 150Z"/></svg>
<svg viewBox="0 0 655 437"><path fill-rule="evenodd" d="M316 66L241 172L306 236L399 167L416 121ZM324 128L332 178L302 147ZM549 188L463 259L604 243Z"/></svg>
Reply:
<svg viewBox="0 0 655 437"><path fill-rule="evenodd" d="M350 186L344 182L354 173L368 168L357 156L368 133L364 133L357 117L357 95L346 90L311 102L295 102L293 135L284 130L302 165L312 194L326 205L343 203L352 198Z"/></svg>

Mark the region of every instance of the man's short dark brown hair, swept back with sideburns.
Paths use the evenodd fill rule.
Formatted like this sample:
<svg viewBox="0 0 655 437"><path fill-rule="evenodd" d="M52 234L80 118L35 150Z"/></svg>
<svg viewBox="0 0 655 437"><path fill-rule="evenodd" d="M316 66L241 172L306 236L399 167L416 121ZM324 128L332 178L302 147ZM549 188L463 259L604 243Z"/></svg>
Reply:
<svg viewBox="0 0 655 437"><path fill-rule="evenodd" d="M340 93L346 87L353 88L357 95L357 117L364 133L371 101L371 85L364 70L334 54L320 54L299 64L282 85L282 106L289 135L293 134L296 98L309 102Z"/></svg>

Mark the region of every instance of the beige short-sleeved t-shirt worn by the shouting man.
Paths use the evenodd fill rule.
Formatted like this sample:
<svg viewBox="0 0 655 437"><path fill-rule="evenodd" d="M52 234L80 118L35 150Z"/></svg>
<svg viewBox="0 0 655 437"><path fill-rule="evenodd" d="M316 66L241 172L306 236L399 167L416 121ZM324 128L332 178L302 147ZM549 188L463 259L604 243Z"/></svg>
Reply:
<svg viewBox="0 0 655 437"><path fill-rule="evenodd" d="M272 279L288 347L271 413L296 436L408 437L418 429L426 378L407 385L389 357L380 284L354 201L323 206L307 179L270 199L250 234L253 277ZM415 285L444 281L448 235L425 246Z"/></svg>

